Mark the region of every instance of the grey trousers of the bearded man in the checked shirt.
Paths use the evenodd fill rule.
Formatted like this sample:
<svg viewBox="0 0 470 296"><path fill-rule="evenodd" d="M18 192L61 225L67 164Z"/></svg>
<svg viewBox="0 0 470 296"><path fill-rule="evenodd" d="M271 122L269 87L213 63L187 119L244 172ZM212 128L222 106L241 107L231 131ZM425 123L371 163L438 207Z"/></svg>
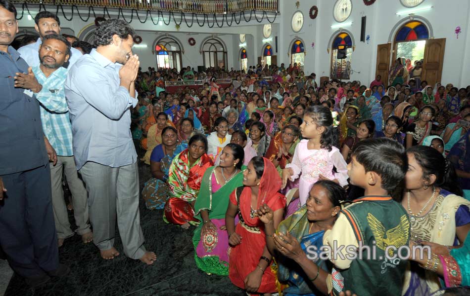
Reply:
<svg viewBox="0 0 470 296"><path fill-rule="evenodd" d="M78 178L77 167L73 156L57 156L57 164L50 165L50 183L52 187L52 207L54 210L55 229L58 238L67 238L73 235L70 229L70 222L67 213L67 206L64 200L64 190L62 188L62 171L65 174L67 184L72 193L72 205L74 210L75 223L78 228L75 230L79 235L91 231L88 222L87 189L82 180Z"/></svg>

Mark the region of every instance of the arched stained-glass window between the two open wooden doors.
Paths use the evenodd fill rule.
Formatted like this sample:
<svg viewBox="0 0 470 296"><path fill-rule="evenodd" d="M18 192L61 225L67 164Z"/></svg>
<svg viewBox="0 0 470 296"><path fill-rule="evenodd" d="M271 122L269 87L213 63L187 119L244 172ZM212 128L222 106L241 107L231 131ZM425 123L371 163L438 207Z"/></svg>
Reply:
<svg viewBox="0 0 470 296"><path fill-rule="evenodd" d="M420 21L413 20L404 24L395 35L395 55L394 59L404 57L409 59L407 69L411 69L415 61L420 61L424 57L424 47L429 39L427 27Z"/></svg>

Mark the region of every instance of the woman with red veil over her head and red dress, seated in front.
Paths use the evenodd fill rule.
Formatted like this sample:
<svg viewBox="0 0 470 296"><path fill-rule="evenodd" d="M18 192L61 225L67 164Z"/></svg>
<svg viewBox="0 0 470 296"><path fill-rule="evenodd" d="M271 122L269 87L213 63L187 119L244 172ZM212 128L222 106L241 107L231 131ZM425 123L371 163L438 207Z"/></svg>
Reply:
<svg viewBox="0 0 470 296"><path fill-rule="evenodd" d="M274 225L282 221L285 196L279 193L281 177L274 164L264 157L253 157L243 172L243 187L230 195L225 224L229 234L229 277L248 293L276 292L276 276L271 269L272 255L266 247L264 224L256 211L267 204L274 211ZM235 228L235 216L240 222Z"/></svg>

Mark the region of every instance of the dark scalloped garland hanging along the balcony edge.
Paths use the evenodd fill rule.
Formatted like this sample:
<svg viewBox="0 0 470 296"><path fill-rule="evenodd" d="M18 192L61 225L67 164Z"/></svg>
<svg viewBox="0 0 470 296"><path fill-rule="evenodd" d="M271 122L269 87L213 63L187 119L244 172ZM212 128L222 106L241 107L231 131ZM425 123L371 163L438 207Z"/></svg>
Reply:
<svg viewBox="0 0 470 296"><path fill-rule="evenodd" d="M30 5L35 5L35 4L30 4ZM19 6L19 5L18 5ZM41 7L44 7L44 4L40 4L39 5L40 8ZM95 18L94 20L94 24L99 27L100 23L102 23L103 21L105 21L106 19L110 19L111 16L109 15L109 12L108 12L108 8L107 7L103 7L103 16L102 17L98 17L96 16L96 12L94 11L94 8L93 6L89 6L88 7L88 14L80 14L80 11L79 11L79 8L77 5L67 5L67 7L70 7L70 11L66 14L65 11L64 11L64 8L62 6L62 4L57 4L55 5L56 7L56 11L55 11L55 15L58 15L59 14L59 10L62 12L62 17L68 21L71 21L74 17L74 13L76 12L78 14L78 17L84 21L84 22L87 22L88 19L93 16ZM83 6L81 7L83 8ZM18 15L16 17L17 20L21 20L24 15L30 15L31 16L31 13L30 13L30 10L29 10L29 6L27 3L23 3L21 4L21 13L19 11L19 7L17 8L17 11L18 11ZM44 7L44 9L46 11L46 7ZM76 10L76 11L75 11ZM124 16L124 10L130 10L131 11L131 17L130 19L126 19L126 17ZM139 12L141 12L141 14L139 14ZM266 20L270 23L270 24L273 24L275 21L276 21L276 18L278 16L278 14L276 12L273 12L274 13L274 18L271 20L269 19L268 17L268 13L266 11L263 11L263 14L261 16L261 19L258 19L258 17L256 16L256 13L258 11L256 10L250 10L250 17L247 18L246 15L245 15L245 12L247 13L248 11L240 11L240 12L233 12L233 13L230 13L230 16L229 16L229 13L227 14L224 14L222 15L222 19L218 19L217 18L217 15L214 13L212 14L212 24L210 23L209 21L209 16L210 14L206 14L206 13L202 13L203 15L203 19L202 20L199 20L198 16L196 13L194 12L181 12L179 13L179 16L180 16L180 21L177 22L176 18L175 18L175 13L173 11L170 11L168 12L168 22L165 21L165 18L163 17L163 12L160 11L160 10L153 10L153 14L152 15L152 10L145 10L145 12L143 10L137 10L135 8L132 8L132 9L123 9L123 8L119 8L118 9L118 15L117 15L117 18L118 19L123 19L124 21L126 21L127 23L132 23L132 21L134 20L134 13L136 14L137 16L137 19L139 20L139 22L141 24L145 23L148 18L150 17L150 20L151 22L154 24L154 25L158 25L158 23L160 21L163 21L163 23L168 26L170 25L170 22L171 22L171 19L173 17L173 22L175 23L175 25L181 25L183 23L183 21L185 21L186 23L186 26L188 28L191 28L192 25L194 24L194 18L196 19L196 22L197 22L197 25L199 27L204 27L206 25L206 22L207 22L207 26L209 28L213 28L216 24L217 24L217 27L219 28L222 28L224 27L224 23L227 24L228 27L232 27L232 24L234 23L234 20L235 20L235 24L240 24L241 23L241 19L242 19L242 16L243 16L243 19L245 20L245 22L250 22L251 19L252 19L252 16L254 14L254 19L256 20L256 22L258 23L262 23L266 17ZM259 11L260 12L260 11ZM143 13L145 13L145 17L143 17ZM156 15L155 15L156 14ZM236 15L238 14L238 20L236 19ZM67 17L67 15L70 15L70 17ZM88 15L87 17L84 17L85 15ZM105 19L104 17L107 18ZM191 21L189 22L188 19L189 19L189 16L191 17ZM156 22L154 21L154 18L156 18ZM188 17L188 19L187 19ZM229 17L231 17L231 21L229 23Z"/></svg>

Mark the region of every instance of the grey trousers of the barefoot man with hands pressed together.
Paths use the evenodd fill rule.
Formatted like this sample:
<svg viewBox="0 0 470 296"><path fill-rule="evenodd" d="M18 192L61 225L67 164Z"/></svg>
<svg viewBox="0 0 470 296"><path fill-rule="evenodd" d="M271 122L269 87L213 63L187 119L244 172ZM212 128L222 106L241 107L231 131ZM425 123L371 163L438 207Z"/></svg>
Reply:
<svg viewBox="0 0 470 296"><path fill-rule="evenodd" d="M79 173L89 194L94 244L102 251L113 247L117 216L124 254L140 259L145 254L145 248L139 213L137 162L112 168L89 161Z"/></svg>

